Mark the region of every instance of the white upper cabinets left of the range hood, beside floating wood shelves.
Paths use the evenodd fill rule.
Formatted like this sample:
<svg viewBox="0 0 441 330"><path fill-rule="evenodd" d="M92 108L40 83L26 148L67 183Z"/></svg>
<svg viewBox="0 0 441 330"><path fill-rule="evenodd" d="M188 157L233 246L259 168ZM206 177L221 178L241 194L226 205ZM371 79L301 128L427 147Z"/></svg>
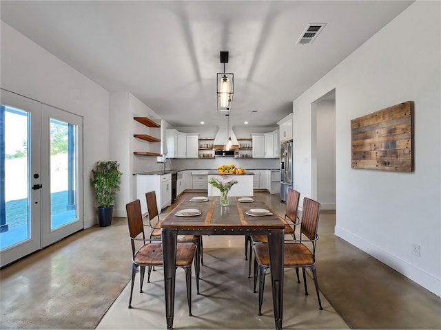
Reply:
<svg viewBox="0 0 441 330"><path fill-rule="evenodd" d="M170 158L198 158L199 133L183 133L176 129L167 129L167 157Z"/></svg>

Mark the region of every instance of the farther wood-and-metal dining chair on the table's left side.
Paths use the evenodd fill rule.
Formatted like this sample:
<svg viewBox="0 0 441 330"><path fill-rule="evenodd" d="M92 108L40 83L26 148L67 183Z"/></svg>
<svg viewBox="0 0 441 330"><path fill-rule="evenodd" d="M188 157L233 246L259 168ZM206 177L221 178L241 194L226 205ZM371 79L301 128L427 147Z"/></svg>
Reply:
<svg viewBox="0 0 441 330"><path fill-rule="evenodd" d="M150 232L150 239L161 239L161 220L159 219L158 206L156 203L156 192L154 190L146 192L145 199L147 201L147 211L149 212L149 225L152 229ZM203 265L202 236L178 235L178 242L196 244L196 272L197 276L201 277L201 263ZM198 282L196 282L196 293L199 294Z"/></svg>

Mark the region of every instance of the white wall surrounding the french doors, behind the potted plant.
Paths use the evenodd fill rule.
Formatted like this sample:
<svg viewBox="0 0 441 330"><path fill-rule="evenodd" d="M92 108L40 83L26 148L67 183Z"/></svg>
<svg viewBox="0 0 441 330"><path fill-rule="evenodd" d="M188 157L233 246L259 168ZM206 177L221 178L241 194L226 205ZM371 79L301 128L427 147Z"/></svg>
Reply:
<svg viewBox="0 0 441 330"><path fill-rule="evenodd" d="M109 94L1 22L1 88L83 117L84 226L96 221L90 170L109 158ZM90 142L94 143L90 143Z"/></svg>

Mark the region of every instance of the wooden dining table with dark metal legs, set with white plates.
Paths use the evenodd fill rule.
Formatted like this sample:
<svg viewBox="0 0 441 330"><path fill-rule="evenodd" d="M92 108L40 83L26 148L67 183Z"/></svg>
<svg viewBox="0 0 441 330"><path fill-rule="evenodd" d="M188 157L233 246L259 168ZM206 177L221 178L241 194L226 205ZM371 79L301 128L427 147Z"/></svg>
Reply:
<svg viewBox="0 0 441 330"><path fill-rule="evenodd" d="M282 329L283 239L287 222L258 198L228 199L227 206L220 206L220 197L185 197L161 221L167 329L173 329L178 235L264 234L268 237L274 321L276 329Z"/></svg>

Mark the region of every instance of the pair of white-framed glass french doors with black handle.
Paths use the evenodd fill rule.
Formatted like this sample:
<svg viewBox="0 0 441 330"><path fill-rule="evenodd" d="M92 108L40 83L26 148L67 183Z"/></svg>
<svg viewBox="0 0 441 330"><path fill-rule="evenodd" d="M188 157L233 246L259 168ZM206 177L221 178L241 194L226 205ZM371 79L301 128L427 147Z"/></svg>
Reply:
<svg viewBox="0 0 441 330"><path fill-rule="evenodd" d="M78 115L1 90L1 266L83 228L81 137Z"/></svg>

